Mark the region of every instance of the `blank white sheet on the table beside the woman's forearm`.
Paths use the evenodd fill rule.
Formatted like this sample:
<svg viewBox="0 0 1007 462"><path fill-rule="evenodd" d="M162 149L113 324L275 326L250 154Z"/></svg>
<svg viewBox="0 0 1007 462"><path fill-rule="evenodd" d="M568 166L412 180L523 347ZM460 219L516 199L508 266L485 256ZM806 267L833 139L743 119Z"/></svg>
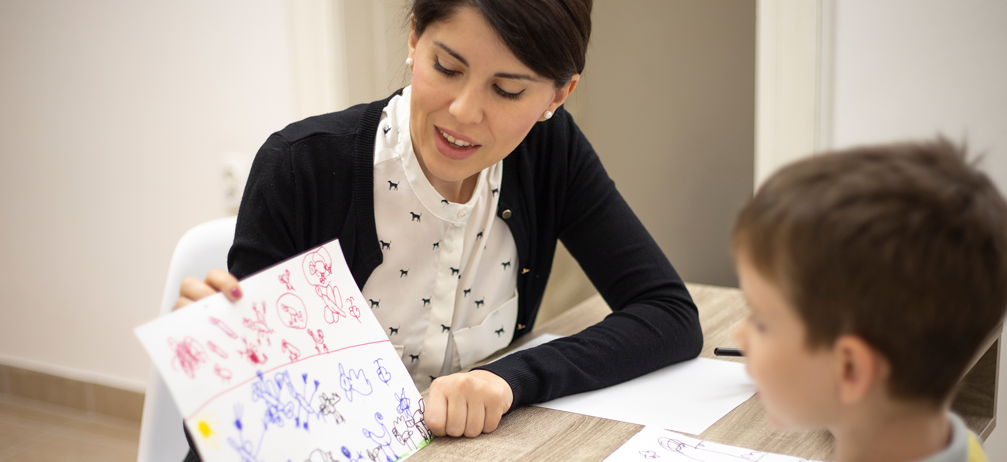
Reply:
<svg viewBox="0 0 1007 462"><path fill-rule="evenodd" d="M697 357L535 406L699 435L754 394L744 364Z"/></svg>

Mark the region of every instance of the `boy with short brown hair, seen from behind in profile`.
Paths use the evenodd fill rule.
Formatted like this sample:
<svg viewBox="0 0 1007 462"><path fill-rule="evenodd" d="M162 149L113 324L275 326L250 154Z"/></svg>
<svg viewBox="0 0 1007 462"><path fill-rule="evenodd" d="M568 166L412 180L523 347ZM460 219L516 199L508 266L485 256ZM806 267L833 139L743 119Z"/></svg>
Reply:
<svg viewBox="0 0 1007 462"><path fill-rule="evenodd" d="M948 140L792 164L732 238L735 338L770 423L837 459L986 461L951 396L1007 307L1007 204Z"/></svg>

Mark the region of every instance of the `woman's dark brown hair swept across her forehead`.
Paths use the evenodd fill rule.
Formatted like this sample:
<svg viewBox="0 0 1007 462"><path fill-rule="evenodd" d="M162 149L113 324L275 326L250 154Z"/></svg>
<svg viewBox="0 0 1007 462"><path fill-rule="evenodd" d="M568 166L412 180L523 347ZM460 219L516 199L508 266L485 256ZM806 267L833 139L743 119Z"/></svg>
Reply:
<svg viewBox="0 0 1007 462"><path fill-rule="evenodd" d="M563 87L584 71L591 38L592 0L415 0L413 31L472 7L496 31L511 52L536 73Z"/></svg>

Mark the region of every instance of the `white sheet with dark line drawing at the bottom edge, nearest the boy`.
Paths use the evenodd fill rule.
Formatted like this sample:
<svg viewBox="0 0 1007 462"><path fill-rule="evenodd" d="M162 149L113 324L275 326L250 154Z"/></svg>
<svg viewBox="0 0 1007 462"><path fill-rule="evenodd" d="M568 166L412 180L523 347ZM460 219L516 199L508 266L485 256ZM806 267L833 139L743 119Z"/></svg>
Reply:
<svg viewBox="0 0 1007 462"><path fill-rule="evenodd" d="M643 427L605 458L605 462L646 462L655 459L666 462L813 462L800 457L709 443L654 426Z"/></svg>

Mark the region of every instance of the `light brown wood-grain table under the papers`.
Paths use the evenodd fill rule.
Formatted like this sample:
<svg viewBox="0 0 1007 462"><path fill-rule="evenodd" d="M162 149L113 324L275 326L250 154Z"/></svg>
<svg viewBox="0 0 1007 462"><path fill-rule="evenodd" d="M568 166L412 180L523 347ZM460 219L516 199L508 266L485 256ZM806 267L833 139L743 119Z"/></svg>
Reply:
<svg viewBox="0 0 1007 462"><path fill-rule="evenodd" d="M731 328L748 314L737 289L688 284L699 307L703 326L703 351L714 357L717 346L737 346L730 339ZM487 359L492 360L543 334L571 335L604 318L611 310L595 295L555 319L536 327ZM999 375L1000 333L995 329L962 378L952 408L961 414L976 434L985 440L996 426L996 391ZM744 358L717 359L743 362ZM643 427L545 408L528 406L512 411L495 432L477 438L442 437L419 451L410 461L601 461ZM769 428L765 410L755 397L738 406L700 435L716 443L775 452L812 460L835 459L832 436L825 431L782 433Z"/></svg>

